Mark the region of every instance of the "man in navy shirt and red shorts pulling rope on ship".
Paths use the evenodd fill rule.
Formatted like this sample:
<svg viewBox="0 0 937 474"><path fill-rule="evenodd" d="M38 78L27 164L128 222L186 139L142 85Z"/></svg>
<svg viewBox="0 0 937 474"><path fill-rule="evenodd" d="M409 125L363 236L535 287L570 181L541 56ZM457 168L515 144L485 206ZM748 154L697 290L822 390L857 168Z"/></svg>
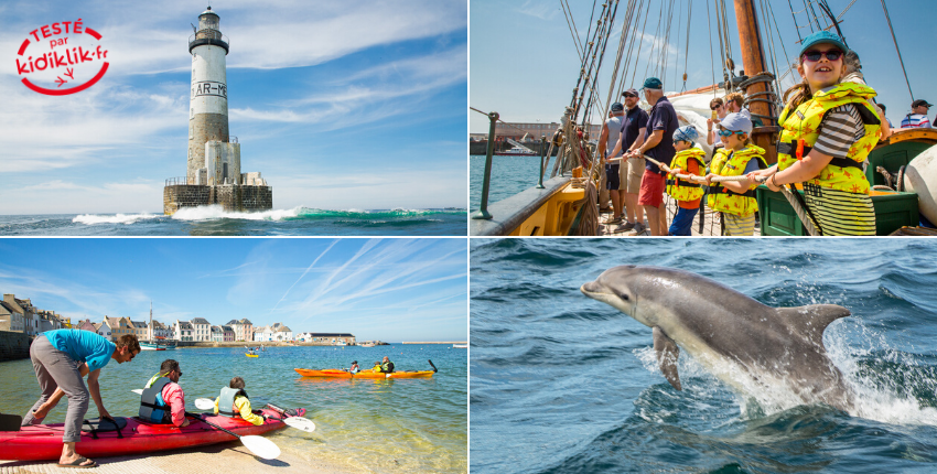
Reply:
<svg viewBox="0 0 937 474"><path fill-rule="evenodd" d="M632 146L629 157L648 155L654 160L670 165L677 150L674 148L674 131L679 127L677 110L664 96L664 83L657 77L648 77L644 82L644 97L653 104L644 131L645 140ZM664 191L666 174L650 161L645 165L640 180L638 206L647 213L647 227L653 236L667 235L667 209L664 207Z"/></svg>

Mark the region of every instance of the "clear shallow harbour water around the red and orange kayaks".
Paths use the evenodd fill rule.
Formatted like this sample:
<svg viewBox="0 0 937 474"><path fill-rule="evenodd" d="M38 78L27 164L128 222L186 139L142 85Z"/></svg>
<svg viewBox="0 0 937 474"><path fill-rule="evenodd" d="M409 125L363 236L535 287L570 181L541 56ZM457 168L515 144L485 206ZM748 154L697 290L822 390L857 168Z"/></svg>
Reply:
<svg viewBox="0 0 937 474"><path fill-rule="evenodd" d="M444 344L394 344L377 347L268 347L260 357L243 348L144 351L132 362L101 369L101 398L112 416L136 416L142 388L166 358L179 360L186 410L198 412L196 398L217 397L235 375L241 376L252 405L304 407L315 431L292 428L266 437L283 452L327 461L357 472L464 473L467 460L467 351ZM301 377L293 368L362 367L390 357L398 370L439 368L432 378L330 379ZM0 411L25 413L39 398L30 359L0 363ZM67 399L49 414L65 420ZM97 416L90 403L88 416ZM231 445L239 445L234 442ZM0 448L2 450L2 448ZM0 456L2 459L2 456Z"/></svg>

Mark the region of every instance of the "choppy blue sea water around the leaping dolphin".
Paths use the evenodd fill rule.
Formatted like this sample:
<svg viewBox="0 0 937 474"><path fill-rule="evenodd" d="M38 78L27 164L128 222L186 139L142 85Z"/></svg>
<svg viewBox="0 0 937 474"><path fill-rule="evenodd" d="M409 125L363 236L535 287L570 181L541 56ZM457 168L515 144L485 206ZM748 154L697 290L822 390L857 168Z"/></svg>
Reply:
<svg viewBox="0 0 937 474"><path fill-rule="evenodd" d="M742 396L686 353L675 390L651 330L579 290L624 263L848 308L823 343L857 409ZM471 281L473 473L937 472L934 240L473 239Z"/></svg>

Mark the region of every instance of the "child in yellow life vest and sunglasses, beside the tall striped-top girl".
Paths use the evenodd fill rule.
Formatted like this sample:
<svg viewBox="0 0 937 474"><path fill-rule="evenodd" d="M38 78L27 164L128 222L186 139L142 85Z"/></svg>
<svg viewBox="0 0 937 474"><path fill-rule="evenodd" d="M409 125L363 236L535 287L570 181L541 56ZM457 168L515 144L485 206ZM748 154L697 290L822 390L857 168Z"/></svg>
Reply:
<svg viewBox="0 0 937 474"><path fill-rule="evenodd" d="M764 162L765 150L752 143L752 120L741 114L729 114L719 123L719 136L729 151L721 163L711 166L706 176L709 188L709 206L722 213L726 236L752 236L755 233L755 187L758 183L751 179L712 183L715 176L744 176L767 168Z"/></svg>

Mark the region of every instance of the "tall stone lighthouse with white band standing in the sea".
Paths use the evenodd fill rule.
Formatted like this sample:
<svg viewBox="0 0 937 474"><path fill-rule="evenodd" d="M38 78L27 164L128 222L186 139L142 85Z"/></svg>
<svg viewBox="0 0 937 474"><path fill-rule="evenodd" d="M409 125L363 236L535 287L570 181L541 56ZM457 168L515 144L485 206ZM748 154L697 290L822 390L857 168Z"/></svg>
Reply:
<svg viewBox="0 0 937 474"><path fill-rule="evenodd" d="M273 191L259 172L240 172L240 143L228 132L228 39L212 7L198 15L189 37L192 84L189 99L189 155L184 177L166 180L163 213L219 204L226 211L273 207Z"/></svg>

